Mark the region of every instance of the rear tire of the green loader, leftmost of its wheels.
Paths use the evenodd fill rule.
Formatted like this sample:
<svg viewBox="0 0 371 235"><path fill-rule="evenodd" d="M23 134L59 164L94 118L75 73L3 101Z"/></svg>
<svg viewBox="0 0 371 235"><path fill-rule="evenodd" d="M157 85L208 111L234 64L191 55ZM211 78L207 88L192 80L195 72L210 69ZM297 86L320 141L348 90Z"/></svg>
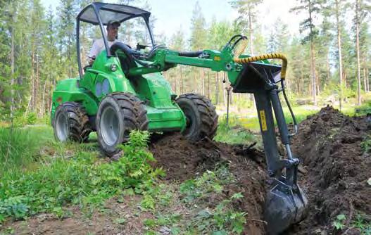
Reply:
<svg viewBox="0 0 371 235"><path fill-rule="evenodd" d="M65 117L65 129L62 130L61 136L61 120ZM85 142L89 138L92 128L89 122L89 117L84 107L80 103L65 102L58 106L53 120L54 137L57 141L75 141Z"/></svg>

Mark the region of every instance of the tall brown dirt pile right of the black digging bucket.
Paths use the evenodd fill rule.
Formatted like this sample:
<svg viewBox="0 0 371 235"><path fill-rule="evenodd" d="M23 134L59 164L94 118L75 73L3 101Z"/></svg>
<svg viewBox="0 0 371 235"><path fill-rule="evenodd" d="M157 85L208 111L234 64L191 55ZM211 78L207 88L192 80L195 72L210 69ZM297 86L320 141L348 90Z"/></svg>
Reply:
<svg viewBox="0 0 371 235"><path fill-rule="evenodd" d="M292 143L308 170L299 184L306 191L309 214L294 234L332 232L332 221L340 214L346 215L346 225L358 213L371 214L371 156L361 147L370 134L366 117L351 118L332 107L301 122Z"/></svg>

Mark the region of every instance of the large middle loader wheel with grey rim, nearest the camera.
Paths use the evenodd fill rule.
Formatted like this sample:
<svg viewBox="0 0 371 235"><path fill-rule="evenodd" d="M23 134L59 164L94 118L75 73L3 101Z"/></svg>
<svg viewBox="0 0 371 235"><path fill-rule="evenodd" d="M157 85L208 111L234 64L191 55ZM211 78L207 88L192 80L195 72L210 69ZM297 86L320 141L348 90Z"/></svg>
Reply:
<svg viewBox="0 0 371 235"><path fill-rule="evenodd" d="M117 132L113 137L107 137L109 129L107 131L106 118L102 117L105 115L104 113L108 112L107 110L111 112L108 114L117 117L117 120L114 121L117 122L116 127L110 126L113 132ZM118 145L129 140L129 134L132 130L147 130L148 124L146 107L137 96L128 92L108 94L102 99L98 113L96 113L96 135L102 151L108 156L118 153L120 151ZM112 140L111 143L109 143L109 139Z"/></svg>

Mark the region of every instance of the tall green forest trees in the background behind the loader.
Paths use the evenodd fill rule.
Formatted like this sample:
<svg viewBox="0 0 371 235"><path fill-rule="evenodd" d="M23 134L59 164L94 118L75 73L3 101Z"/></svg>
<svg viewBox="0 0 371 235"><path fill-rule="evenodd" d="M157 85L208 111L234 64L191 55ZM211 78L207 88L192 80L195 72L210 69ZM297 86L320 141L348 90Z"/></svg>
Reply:
<svg viewBox="0 0 371 235"><path fill-rule="evenodd" d="M196 51L220 49L234 34L249 38L246 53L282 52L287 55L287 83L290 99L296 104L332 102L362 104L370 91L371 33L370 1L301 0L290 11L306 15L300 32L289 32L277 18L269 34L263 34L258 20L261 0L230 1L238 17L206 22L198 2L194 6L189 38L182 29L171 37L156 34L156 15L151 15L155 42L170 49ZM30 113L49 115L52 91L59 80L77 77L75 15L88 1L61 0L54 11L39 0L1 1L0 19L0 109L7 120ZM122 1L147 10L146 1ZM138 37L125 25L125 37ZM84 27L83 37L96 38L100 32ZM99 36L98 36L99 37ZM92 40L84 41L89 50ZM82 61L86 58L82 58ZM183 65L165 72L176 94L196 92L216 106L225 106L226 89L222 72ZM232 105L251 106L251 97L233 95Z"/></svg>

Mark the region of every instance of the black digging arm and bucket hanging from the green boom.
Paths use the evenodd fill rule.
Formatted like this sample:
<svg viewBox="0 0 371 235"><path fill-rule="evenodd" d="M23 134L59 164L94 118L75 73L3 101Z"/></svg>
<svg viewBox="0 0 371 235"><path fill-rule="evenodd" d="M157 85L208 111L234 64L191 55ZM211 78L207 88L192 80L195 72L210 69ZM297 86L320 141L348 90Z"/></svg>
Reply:
<svg viewBox="0 0 371 235"><path fill-rule="evenodd" d="M264 209L268 234L281 234L291 224L303 220L308 204L306 196L296 183L299 160L293 158L291 154L290 137L294 134L288 131L278 96L279 92L284 93L280 70L281 67L277 65L247 63L244 64L236 83L232 84L234 92L252 93L256 101L268 174L271 177ZM281 82L280 89L279 82ZM284 97L289 106L286 94ZM286 158L278 152L273 112L281 142L286 148ZM294 114L292 112L291 114L295 120ZM297 130L296 125L295 130Z"/></svg>

